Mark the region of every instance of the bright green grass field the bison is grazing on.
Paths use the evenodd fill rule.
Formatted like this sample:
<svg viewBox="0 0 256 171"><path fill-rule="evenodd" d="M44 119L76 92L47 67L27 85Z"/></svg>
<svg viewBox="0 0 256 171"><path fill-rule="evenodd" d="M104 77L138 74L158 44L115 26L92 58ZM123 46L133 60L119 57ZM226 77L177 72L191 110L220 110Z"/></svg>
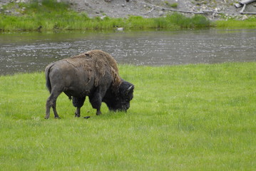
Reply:
<svg viewBox="0 0 256 171"><path fill-rule="evenodd" d="M120 66L127 113L44 120L43 73L0 76L0 170L255 170L256 63Z"/></svg>

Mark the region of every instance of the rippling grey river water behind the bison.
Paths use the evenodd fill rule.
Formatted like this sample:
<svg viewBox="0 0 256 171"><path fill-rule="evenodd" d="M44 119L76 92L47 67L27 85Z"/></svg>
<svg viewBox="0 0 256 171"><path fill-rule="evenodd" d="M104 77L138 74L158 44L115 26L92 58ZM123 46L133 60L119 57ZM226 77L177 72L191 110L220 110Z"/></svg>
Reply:
<svg viewBox="0 0 256 171"><path fill-rule="evenodd" d="M92 49L133 65L256 61L256 29L0 33L0 75L43 71Z"/></svg>

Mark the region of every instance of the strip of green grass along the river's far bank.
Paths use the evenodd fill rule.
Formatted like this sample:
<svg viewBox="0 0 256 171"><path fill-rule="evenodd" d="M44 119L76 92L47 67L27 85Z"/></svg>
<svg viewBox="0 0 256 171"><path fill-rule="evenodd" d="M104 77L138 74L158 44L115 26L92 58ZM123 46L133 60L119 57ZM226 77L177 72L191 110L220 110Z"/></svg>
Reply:
<svg viewBox="0 0 256 171"><path fill-rule="evenodd" d="M7 4L4 11L16 9L16 14L0 14L0 31L63 31L63 30L110 30L110 29L170 29L181 28L255 28L256 18L245 21L235 19L210 21L203 15L185 16L169 13L155 18L128 16L127 18L111 18L101 16L89 17L84 12L73 11L66 3L42 1L41 4ZM235 21L235 22L233 22ZM234 25L235 23L235 25ZM248 23L248 24L247 24Z"/></svg>

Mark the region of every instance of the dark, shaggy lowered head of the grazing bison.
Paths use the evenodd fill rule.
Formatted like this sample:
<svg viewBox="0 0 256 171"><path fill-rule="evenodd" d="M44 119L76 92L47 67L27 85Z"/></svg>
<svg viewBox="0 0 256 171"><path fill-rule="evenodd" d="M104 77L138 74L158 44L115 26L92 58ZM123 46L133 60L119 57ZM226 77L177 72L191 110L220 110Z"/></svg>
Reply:
<svg viewBox="0 0 256 171"><path fill-rule="evenodd" d="M110 96L107 95L108 97L103 99L103 101L108 105L109 110L127 111L130 108L130 100L133 99L133 89L132 83L122 81L118 93L111 93Z"/></svg>

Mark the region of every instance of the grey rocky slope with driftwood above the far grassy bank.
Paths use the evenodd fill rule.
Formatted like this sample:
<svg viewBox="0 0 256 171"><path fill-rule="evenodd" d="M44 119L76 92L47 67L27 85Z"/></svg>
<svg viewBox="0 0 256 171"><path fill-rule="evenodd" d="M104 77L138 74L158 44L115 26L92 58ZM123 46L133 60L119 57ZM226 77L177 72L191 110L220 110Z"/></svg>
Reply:
<svg viewBox="0 0 256 171"><path fill-rule="evenodd" d="M28 2L29 0L0 0L0 11L8 3ZM41 0L39 0L41 1ZM240 14L241 8L236 8L236 0L58 0L70 4L75 11L83 11L89 17L110 16L124 18L129 15L145 18L159 17L170 14L172 11L182 11L185 15L201 13L208 19L235 17L247 19ZM185 12L184 12L185 11ZM256 2L247 5L247 12L256 12ZM14 14L15 11L6 10L4 13ZM18 15L18 14L17 14Z"/></svg>

